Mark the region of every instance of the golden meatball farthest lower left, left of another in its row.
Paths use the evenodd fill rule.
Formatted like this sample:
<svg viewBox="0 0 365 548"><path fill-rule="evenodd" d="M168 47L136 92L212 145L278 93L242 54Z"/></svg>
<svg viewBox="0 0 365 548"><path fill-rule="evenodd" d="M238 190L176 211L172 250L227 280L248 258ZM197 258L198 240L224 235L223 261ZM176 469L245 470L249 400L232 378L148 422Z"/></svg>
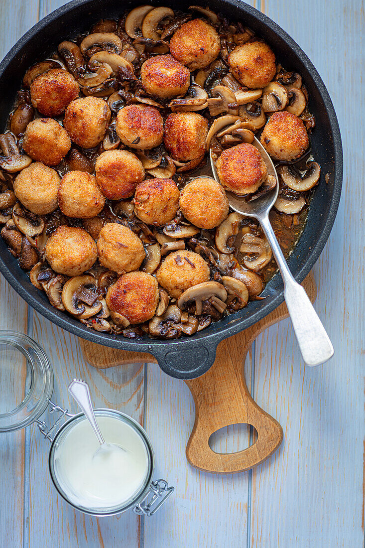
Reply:
<svg viewBox="0 0 365 548"><path fill-rule="evenodd" d="M98 251L93 238L85 230L62 225L45 244L45 258L55 272L79 276L93 266Z"/></svg>

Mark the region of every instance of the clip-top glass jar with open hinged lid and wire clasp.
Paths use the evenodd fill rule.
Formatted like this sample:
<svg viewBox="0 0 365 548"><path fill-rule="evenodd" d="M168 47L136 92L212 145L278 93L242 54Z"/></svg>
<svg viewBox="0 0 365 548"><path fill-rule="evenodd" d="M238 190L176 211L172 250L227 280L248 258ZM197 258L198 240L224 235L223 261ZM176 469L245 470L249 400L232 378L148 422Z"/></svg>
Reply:
<svg viewBox="0 0 365 548"><path fill-rule="evenodd" d="M145 430L130 416L116 409L95 409L98 416L110 416L123 421L141 438L147 453L147 472L145 481L132 498L122 505L90 509L82 504L73 503L62 487L58 474L55 456L62 447L66 436L81 421L87 420L83 413L72 414L67 409L59 407L50 398L53 392L53 371L44 350L30 337L14 331L0 330L0 367L4 369L2 378L11 380L24 379L24 393L14 397L14 404L8 408L0 407L0 432L20 430L36 423L45 439L51 442L49 450L49 472L58 493L76 510L94 516L111 516L133 509L138 515L152 516L173 493L174 487L169 487L164 479L152 481L155 469L155 456L152 445ZM8 370L6 368L8 367ZM10 386L10 384L9 384ZM7 387L3 387L7 390ZM57 416L53 425L48 426L41 415L47 407ZM66 422L64 423L64 419Z"/></svg>

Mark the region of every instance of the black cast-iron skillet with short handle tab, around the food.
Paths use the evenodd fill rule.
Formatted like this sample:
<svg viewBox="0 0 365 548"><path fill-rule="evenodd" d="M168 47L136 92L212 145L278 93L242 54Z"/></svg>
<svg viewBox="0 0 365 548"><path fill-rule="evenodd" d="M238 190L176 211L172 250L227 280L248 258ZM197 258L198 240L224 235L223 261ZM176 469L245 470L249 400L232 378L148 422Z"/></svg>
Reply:
<svg viewBox="0 0 365 548"><path fill-rule="evenodd" d="M190 5L185 0L152 3L170 5L181 10ZM16 90L20 88L22 76L30 65L46 58L56 50L62 40L77 36L101 18L118 18L124 9L135 5L130 0L124 3L119 0L73 0L31 28L0 64L0 129L5 129ZM289 259L290 270L296 280L302 282L327 241L341 193L343 157L339 126L332 102L311 61L275 22L237 0L211 0L209 6L232 21L241 20L244 25L263 36L284 68L298 71L303 76L309 92L309 108L316 118L316 129L311 137L312 148L316 161L321 165L322 175L311 202L305 230ZM324 181L326 173L329 174L328 184ZM120 335L90 330L77 319L56 310L50 305L47 296L32 285L1 238L0 271L28 304L63 329L101 345L151 353L164 372L182 379L192 379L205 373L214 362L216 346L221 340L252 326L283 301L282 279L276 275L265 288L266 299L249 302L245 309L211 324L200 333L172 341L151 340L147 335L145 339L130 340ZM326 324L326 318L322 319Z"/></svg>

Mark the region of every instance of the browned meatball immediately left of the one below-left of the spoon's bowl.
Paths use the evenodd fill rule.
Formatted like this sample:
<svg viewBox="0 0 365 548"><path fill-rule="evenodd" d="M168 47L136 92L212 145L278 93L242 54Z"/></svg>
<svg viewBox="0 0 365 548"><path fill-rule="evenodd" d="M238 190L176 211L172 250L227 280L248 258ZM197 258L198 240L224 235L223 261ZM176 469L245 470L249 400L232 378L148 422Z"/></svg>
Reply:
<svg viewBox="0 0 365 548"><path fill-rule="evenodd" d="M134 212L149 225L165 225L178 212L179 196L178 186L172 179L140 182L134 194Z"/></svg>

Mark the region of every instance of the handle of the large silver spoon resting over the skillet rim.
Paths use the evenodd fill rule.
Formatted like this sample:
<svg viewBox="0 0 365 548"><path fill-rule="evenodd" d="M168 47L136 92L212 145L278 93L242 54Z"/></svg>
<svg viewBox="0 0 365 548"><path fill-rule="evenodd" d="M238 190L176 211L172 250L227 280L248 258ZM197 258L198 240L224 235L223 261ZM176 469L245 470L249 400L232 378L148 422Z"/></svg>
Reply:
<svg viewBox="0 0 365 548"><path fill-rule="evenodd" d="M266 215L259 221L284 281L284 299L292 319L301 355L308 366L318 366L333 356L332 343L315 309L313 309L305 289L293 278L272 230L269 217Z"/></svg>

